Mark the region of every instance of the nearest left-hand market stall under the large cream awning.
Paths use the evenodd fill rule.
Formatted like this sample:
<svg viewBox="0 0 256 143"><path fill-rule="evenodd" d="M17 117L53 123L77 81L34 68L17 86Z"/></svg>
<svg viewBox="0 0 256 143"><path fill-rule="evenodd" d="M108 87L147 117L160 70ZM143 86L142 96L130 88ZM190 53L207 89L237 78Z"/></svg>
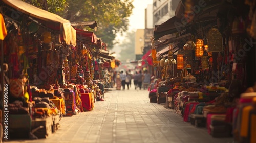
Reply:
<svg viewBox="0 0 256 143"><path fill-rule="evenodd" d="M1 52L9 88L8 139L46 138L66 114L65 98L57 89L65 82L63 57L76 46L75 30L68 20L23 1L0 3L8 31Z"/></svg>

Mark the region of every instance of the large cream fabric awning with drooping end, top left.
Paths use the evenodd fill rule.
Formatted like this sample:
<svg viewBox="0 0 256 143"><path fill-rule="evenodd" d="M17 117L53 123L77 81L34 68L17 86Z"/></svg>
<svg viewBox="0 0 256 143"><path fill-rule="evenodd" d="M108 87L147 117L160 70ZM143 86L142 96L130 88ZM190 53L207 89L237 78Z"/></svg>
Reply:
<svg viewBox="0 0 256 143"><path fill-rule="evenodd" d="M66 44L72 44L74 46L76 45L76 32L71 26L69 20L20 0L2 1L13 8L11 11L12 13L15 12L14 14L17 14L15 16L20 16L19 14L26 14L32 20L40 23L42 22L45 27L60 31ZM11 15L9 17L13 18Z"/></svg>

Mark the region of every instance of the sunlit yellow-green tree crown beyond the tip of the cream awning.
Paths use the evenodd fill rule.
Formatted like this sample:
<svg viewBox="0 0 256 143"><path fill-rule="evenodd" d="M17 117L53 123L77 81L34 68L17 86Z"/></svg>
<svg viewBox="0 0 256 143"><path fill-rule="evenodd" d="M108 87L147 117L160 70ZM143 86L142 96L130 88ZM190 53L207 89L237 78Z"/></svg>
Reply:
<svg viewBox="0 0 256 143"><path fill-rule="evenodd" d="M73 21L97 21L95 32L112 49L116 33L127 31L127 19L132 14L134 0L66 0L67 8L59 13Z"/></svg>

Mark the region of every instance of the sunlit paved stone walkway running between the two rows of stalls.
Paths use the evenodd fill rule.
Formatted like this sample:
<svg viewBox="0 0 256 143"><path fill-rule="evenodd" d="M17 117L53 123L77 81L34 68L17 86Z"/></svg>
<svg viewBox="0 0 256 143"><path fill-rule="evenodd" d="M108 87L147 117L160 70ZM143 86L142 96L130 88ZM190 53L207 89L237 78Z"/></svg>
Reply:
<svg viewBox="0 0 256 143"><path fill-rule="evenodd" d="M60 128L47 139L8 142L174 142L231 143L230 138L213 138L206 128L183 122L174 110L150 103L148 91L115 90L105 93L105 101L92 111L63 117Z"/></svg>

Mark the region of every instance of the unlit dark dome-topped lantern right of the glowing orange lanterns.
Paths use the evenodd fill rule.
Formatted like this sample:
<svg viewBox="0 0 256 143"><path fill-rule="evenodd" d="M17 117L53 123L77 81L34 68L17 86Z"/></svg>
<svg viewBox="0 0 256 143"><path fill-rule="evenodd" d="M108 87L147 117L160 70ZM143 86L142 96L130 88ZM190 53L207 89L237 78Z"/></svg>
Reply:
<svg viewBox="0 0 256 143"><path fill-rule="evenodd" d="M223 39L218 29L212 28L207 33L208 37L208 52L222 52Z"/></svg>

